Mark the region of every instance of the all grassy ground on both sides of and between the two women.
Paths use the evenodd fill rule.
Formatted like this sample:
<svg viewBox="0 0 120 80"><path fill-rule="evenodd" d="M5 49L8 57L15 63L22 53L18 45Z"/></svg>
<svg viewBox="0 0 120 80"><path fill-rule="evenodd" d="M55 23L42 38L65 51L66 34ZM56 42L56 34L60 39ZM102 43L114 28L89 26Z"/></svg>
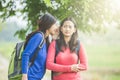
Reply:
<svg viewBox="0 0 120 80"><path fill-rule="evenodd" d="M0 42L0 53L6 58L10 55L16 43ZM87 51L89 69L84 72L85 80L119 80L120 79L120 44L92 44L85 45ZM92 70L93 69L93 70ZM117 70L118 69L118 70ZM115 71L118 71L116 73ZM45 75L50 78L50 72Z"/></svg>

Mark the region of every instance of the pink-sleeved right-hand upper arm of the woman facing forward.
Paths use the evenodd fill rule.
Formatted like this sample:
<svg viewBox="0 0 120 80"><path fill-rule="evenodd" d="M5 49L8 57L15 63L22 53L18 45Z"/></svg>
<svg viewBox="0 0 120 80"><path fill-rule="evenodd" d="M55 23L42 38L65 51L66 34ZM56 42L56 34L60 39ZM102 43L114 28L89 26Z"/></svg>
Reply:
<svg viewBox="0 0 120 80"><path fill-rule="evenodd" d="M88 62L87 62L87 55L86 55L86 51L83 47L83 45L80 43L80 49L79 49L79 59L80 59L80 64L79 64L79 68L80 71L82 70L86 70L88 67Z"/></svg>

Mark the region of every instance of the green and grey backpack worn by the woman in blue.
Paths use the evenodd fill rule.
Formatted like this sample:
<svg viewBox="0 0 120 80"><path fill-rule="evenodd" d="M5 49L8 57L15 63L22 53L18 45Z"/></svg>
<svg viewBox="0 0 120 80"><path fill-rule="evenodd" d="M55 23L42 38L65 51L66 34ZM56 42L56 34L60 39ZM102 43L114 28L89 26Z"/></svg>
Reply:
<svg viewBox="0 0 120 80"><path fill-rule="evenodd" d="M44 44L44 35L42 32L39 32L39 33L42 34L43 39L42 39L40 45L36 48L34 55L30 59L29 67L31 67L33 65L34 60L35 60L39 50L42 48L42 46ZM21 58L22 58L22 52L24 51L24 46L25 46L24 44L25 44L24 41L17 43L14 48L13 53L11 54L9 68L8 68L8 80L21 80L21 78L22 78L22 71L21 71L22 70L21 69L21 60L22 59Z"/></svg>

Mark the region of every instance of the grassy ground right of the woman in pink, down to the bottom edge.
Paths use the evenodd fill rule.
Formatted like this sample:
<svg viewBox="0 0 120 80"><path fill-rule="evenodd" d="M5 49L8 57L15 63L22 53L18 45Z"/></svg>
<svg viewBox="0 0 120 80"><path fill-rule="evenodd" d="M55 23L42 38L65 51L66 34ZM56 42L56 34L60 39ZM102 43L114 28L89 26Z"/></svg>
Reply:
<svg viewBox="0 0 120 80"><path fill-rule="evenodd" d="M89 67L93 68L91 80L120 79L120 44L85 45ZM117 72L118 73L117 73ZM97 74L95 77L94 73Z"/></svg>

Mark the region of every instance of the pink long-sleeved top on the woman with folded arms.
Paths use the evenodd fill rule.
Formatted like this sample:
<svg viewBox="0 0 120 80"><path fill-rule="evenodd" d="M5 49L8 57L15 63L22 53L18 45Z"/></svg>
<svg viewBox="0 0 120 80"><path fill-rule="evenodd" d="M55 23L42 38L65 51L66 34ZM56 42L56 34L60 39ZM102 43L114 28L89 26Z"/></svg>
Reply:
<svg viewBox="0 0 120 80"><path fill-rule="evenodd" d="M67 48L64 52L59 52L56 56L56 63L54 63L55 58L55 41L53 41L48 49L46 67L49 70L55 72L62 72L59 75L53 77L53 80L81 80L80 74L71 71L71 65L77 64L78 56L76 53L71 53L70 49ZM81 71L87 69L87 57L83 45L80 43L79 51L79 67Z"/></svg>

